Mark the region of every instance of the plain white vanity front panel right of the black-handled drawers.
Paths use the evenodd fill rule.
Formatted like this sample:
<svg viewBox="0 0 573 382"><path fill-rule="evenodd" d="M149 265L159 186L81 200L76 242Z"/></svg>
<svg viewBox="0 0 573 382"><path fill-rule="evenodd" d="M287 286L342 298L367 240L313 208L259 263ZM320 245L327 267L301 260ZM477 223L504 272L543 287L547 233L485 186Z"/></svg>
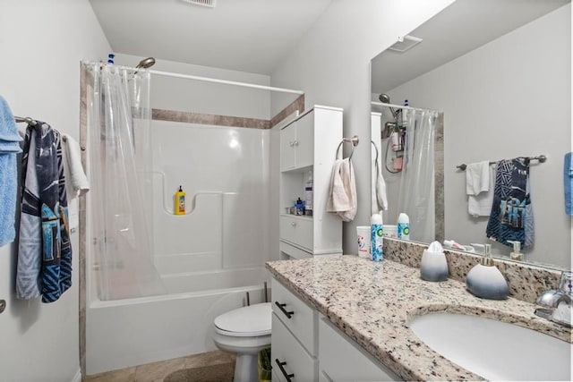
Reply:
<svg viewBox="0 0 573 382"><path fill-rule="evenodd" d="M321 374L335 381L401 380L324 316L319 319L319 366Z"/></svg>

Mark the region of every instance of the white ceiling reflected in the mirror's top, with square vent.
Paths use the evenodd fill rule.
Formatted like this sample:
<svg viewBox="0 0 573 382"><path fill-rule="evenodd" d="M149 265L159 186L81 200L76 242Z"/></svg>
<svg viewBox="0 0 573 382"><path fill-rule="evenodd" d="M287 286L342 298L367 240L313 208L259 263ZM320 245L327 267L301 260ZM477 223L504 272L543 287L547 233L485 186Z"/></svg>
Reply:
<svg viewBox="0 0 573 382"><path fill-rule="evenodd" d="M570 0L457 0L409 35L423 41L405 53L372 59L372 93L380 94L465 55Z"/></svg>

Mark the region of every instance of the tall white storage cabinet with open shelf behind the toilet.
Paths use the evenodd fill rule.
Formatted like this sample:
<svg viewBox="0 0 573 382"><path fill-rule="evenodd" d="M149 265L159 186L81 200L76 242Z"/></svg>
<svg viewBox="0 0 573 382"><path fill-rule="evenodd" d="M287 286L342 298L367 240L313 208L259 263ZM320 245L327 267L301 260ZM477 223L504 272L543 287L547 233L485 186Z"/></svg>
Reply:
<svg viewBox="0 0 573 382"><path fill-rule="evenodd" d="M280 131L279 249L281 258L342 254L342 221L326 211L336 150L342 140L342 109L314 106ZM312 216L291 213L304 200L312 173Z"/></svg>

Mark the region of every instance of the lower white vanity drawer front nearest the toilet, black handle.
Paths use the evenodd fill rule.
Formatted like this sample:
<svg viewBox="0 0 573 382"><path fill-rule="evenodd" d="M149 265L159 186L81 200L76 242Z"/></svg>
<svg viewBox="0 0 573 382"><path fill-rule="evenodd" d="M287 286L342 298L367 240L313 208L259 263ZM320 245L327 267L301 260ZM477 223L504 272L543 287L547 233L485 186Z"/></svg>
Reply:
<svg viewBox="0 0 573 382"><path fill-rule="evenodd" d="M317 361L296 341L276 313L272 315L271 361L273 374L286 381L285 374L293 381L314 381L317 376ZM281 365L278 365L278 362ZM281 370L284 369L284 372Z"/></svg>

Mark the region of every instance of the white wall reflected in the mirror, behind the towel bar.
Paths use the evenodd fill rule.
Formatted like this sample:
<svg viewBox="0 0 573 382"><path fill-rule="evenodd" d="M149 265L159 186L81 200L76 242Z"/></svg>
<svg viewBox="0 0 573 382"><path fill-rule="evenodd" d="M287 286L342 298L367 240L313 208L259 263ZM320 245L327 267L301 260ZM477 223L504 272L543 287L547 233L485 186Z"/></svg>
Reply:
<svg viewBox="0 0 573 382"><path fill-rule="evenodd" d="M535 246L524 252L526 259L570 267L562 178L571 150L570 29L568 4L390 92L444 112L448 239L486 242L488 217L467 213L466 174L457 165L543 154L547 162L530 167ZM511 251L498 243L493 250Z"/></svg>

